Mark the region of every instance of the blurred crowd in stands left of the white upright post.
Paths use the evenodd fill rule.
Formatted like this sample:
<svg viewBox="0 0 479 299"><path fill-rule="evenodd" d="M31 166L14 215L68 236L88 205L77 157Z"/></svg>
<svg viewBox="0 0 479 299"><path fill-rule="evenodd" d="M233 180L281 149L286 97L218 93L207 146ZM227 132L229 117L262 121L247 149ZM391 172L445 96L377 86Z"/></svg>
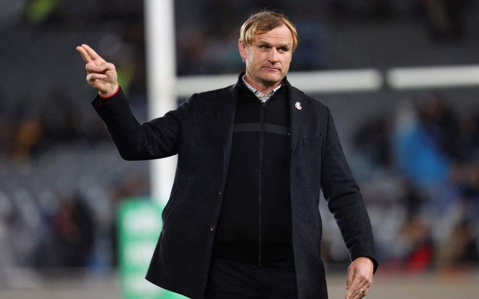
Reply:
<svg viewBox="0 0 479 299"><path fill-rule="evenodd" d="M89 104L95 92L74 49L101 35L95 48L115 62L144 119L143 4L19 0L0 8L0 52L10 57L1 62L9 76L0 86L0 277L15 267L110 271L116 206L148 194L149 168L118 157Z"/></svg>

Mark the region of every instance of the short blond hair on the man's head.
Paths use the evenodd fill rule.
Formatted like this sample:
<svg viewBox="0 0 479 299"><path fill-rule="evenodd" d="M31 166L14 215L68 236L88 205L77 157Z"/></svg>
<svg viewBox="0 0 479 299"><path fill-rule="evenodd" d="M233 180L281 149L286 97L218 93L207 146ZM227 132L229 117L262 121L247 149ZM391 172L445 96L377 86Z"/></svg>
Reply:
<svg viewBox="0 0 479 299"><path fill-rule="evenodd" d="M293 23L288 18L279 12L264 10L258 13L251 14L249 18L242 24L240 29L240 40L246 45L250 46L254 39L254 34L261 34L268 32L281 25L288 27L293 37L292 52L298 46L298 33Z"/></svg>

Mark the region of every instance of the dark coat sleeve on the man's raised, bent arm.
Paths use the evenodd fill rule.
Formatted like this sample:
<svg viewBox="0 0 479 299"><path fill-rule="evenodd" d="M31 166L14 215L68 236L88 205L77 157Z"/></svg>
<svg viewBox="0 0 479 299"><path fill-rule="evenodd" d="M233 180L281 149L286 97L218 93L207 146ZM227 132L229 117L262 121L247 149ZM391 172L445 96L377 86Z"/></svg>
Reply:
<svg viewBox="0 0 479 299"><path fill-rule="evenodd" d="M178 153L182 123L188 115L192 97L194 95L175 110L141 125L133 116L121 89L102 104L97 95L91 104L105 123L121 157L125 160L147 160Z"/></svg>

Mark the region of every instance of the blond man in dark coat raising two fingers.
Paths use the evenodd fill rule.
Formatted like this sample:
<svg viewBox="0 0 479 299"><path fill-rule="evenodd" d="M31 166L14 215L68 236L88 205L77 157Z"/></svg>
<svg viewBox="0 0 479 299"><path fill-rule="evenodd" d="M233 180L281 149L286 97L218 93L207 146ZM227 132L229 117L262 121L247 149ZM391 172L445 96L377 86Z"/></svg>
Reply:
<svg viewBox="0 0 479 299"><path fill-rule="evenodd" d="M329 109L286 80L294 25L262 11L241 26L246 71L140 125L115 67L77 47L92 105L127 160L178 153L146 279L191 298L327 298L320 190L351 265L346 299L366 296L377 268L369 216Z"/></svg>

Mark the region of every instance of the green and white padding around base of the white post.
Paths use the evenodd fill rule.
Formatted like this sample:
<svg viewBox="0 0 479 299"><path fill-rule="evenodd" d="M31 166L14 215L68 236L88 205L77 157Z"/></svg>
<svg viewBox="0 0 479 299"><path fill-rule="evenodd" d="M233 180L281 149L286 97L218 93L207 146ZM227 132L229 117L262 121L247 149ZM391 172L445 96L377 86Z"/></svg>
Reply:
<svg viewBox="0 0 479 299"><path fill-rule="evenodd" d="M145 279L161 232L162 210L149 198L127 198L118 206L118 261L124 299L186 298Z"/></svg>

